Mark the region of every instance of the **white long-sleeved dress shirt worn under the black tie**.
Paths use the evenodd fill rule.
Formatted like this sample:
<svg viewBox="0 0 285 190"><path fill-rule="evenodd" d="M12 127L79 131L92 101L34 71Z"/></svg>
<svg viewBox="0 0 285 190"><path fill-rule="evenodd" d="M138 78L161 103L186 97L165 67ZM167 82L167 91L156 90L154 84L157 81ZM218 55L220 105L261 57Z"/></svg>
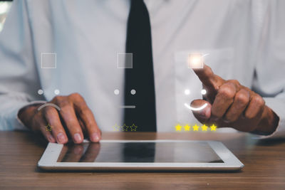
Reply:
<svg viewBox="0 0 285 190"><path fill-rule="evenodd" d="M202 98L202 83L187 68L187 56L196 52L207 54L204 61L217 75L262 95L280 118L271 136L285 136L285 1L145 4L158 132L175 131L177 124L199 125L184 105ZM117 62L118 53L125 52L129 10L128 0L14 1L0 33L0 129L24 129L17 120L19 109L51 100L55 90L80 93L103 132L123 125L125 69ZM56 53L56 68L42 68L47 53Z"/></svg>

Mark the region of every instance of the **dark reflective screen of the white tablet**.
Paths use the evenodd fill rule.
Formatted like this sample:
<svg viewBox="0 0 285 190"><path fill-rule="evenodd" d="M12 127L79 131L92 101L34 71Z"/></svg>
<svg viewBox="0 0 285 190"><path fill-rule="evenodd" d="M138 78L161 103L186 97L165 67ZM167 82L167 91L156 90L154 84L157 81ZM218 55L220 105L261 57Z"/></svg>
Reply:
<svg viewBox="0 0 285 190"><path fill-rule="evenodd" d="M207 142L66 144L57 162L224 163Z"/></svg>

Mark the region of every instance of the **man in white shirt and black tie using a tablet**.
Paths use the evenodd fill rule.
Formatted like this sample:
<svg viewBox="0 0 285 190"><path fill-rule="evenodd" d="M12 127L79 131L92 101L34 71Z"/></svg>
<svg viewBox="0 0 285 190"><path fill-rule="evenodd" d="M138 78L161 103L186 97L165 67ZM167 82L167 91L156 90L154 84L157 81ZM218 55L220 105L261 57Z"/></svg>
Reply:
<svg viewBox="0 0 285 190"><path fill-rule="evenodd" d="M49 142L69 136L81 143L123 124L163 132L199 120L284 137L283 7L254 0L14 1L0 37L1 128L26 125ZM122 68L122 53L125 61L132 55L125 52L133 65ZM193 53L206 63L195 73L187 68ZM44 67L46 58L56 64ZM39 109L46 101L53 106ZM190 102L207 107L192 115Z"/></svg>

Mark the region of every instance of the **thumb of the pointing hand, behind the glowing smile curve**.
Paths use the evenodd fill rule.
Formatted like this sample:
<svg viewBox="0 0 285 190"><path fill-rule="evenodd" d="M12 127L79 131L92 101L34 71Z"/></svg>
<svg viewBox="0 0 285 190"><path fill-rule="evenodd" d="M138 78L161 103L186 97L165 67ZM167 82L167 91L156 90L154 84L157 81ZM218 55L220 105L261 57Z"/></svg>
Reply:
<svg viewBox="0 0 285 190"><path fill-rule="evenodd" d="M204 107L207 105L206 107ZM193 115L196 117L199 122L207 122L209 120L209 117L211 117L211 108L212 105L207 102L206 100L193 100L191 102L191 107L199 108L199 107L204 107L201 110L192 110Z"/></svg>

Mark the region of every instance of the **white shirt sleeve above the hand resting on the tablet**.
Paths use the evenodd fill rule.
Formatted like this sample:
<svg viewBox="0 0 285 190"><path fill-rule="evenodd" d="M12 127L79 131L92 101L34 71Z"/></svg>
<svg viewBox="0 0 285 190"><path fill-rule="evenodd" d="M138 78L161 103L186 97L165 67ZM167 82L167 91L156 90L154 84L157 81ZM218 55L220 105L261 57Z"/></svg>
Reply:
<svg viewBox="0 0 285 190"><path fill-rule="evenodd" d="M0 33L0 130L21 130L21 107L41 100L26 1L14 1Z"/></svg>

